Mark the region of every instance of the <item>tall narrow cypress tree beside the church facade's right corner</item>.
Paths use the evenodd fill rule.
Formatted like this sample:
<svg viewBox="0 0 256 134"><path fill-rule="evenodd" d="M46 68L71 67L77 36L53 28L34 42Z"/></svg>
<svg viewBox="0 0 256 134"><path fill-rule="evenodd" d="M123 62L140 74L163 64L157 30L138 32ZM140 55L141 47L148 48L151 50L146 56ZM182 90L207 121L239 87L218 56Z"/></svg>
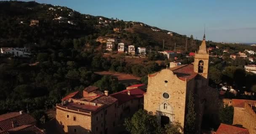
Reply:
<svg viewBox="0 0 256 134"><path fill-rule="evenodd" d="M189 93L188 103L187 103L187 115L185 121L185 132L188 134L195 134L195 98L194 93Z"/></svg>

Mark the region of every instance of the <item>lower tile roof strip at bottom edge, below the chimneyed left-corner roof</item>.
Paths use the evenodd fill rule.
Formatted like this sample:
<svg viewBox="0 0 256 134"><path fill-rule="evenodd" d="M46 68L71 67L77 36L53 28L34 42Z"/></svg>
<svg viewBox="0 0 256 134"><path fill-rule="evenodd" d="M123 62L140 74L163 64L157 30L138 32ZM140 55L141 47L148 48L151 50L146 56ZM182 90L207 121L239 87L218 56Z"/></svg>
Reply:
<svg viewBox="0 0 256 134"><path fill-rule="evenodd" d="M24 132L25 131L25 132ZM13 129L8 130L10 134L45 134L41 129L34 125L23 125Z"/></svg>

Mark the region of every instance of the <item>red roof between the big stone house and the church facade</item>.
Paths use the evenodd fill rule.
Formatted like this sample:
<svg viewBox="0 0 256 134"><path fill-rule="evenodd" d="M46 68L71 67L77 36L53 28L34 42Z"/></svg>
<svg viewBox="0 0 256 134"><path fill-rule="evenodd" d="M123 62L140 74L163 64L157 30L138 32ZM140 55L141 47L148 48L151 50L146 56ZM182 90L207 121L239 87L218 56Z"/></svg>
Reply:
<svg viewBox="0 0 256 134"><path fill-rule="evenodd" d="M130 91L130 95L128 95L128 91ZM127 101L143 97L144 93L145 92L143 90L136 88L136 89L126 89L121 92L114 93L110 96L116 98L118 100L118 105L121 105Z"/></svg>

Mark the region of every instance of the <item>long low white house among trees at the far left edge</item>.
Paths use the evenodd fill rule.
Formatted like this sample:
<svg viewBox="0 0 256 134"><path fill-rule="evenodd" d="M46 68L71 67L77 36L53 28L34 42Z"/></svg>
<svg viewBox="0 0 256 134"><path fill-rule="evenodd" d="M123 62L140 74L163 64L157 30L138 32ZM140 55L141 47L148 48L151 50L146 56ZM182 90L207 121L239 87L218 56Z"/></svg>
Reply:
<svg viewBox="0 0 256 134"><path fill-rule="evenodd" d="M29 57L31 53L27 48L1 47L1 54L12 54L18 57Z"/></svg>

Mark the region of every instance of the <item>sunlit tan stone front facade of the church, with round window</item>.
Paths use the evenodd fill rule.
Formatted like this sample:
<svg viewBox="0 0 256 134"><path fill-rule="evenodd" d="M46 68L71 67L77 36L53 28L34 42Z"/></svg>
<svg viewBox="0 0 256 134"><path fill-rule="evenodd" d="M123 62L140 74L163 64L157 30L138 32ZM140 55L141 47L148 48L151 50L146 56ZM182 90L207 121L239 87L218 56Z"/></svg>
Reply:
<svg viewBox="0 0 256 134"><path fill-rule="evenodd" d="M165 82L168 81L168 82ZM149 77L147 93L144 95L144 109L152 111L159 116L168 116L173 121L179 121L184 127L186 107L187 82L180 80L171 70L164 69L155 76ZM163 98L168 93L170 98ZM167 103L171 111L159 111L163 103Z"/></svg>

